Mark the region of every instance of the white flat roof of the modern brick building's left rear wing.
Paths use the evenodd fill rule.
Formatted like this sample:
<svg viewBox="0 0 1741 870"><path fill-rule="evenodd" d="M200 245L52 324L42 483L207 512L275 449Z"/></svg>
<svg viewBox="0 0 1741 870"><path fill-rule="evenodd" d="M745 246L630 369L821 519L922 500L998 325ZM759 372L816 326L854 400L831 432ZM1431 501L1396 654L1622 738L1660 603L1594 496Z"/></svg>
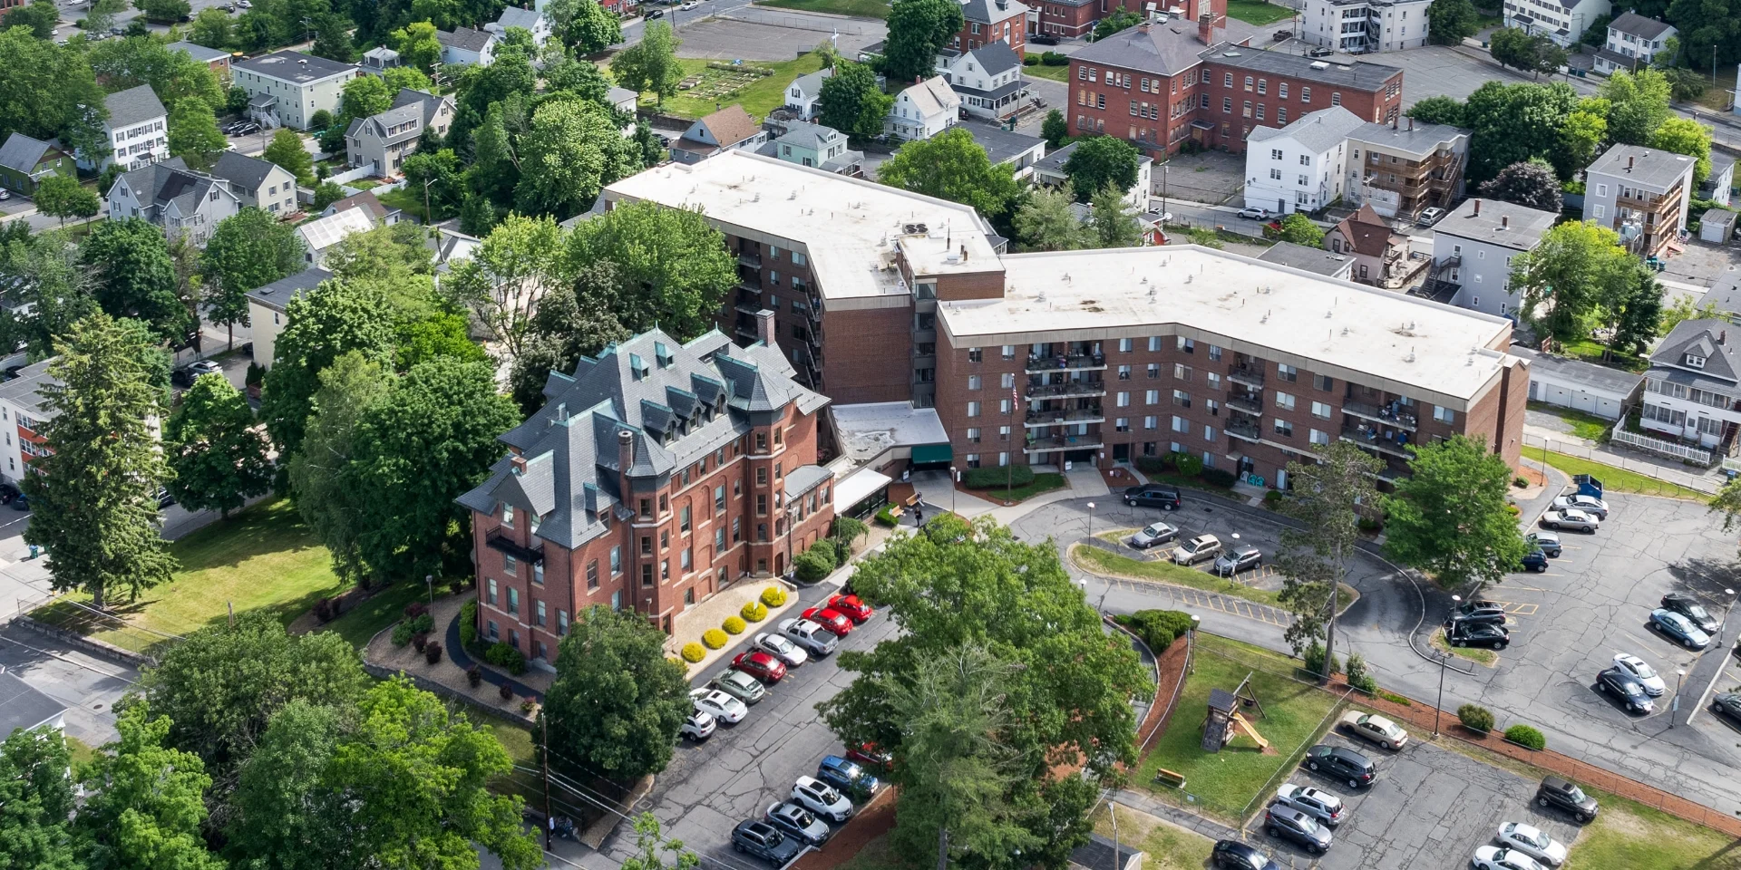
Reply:
<svg viewBox="0 0 1741 870"><path fill-rule="evenodd" d="M989 228L968 205L742 150L648 169L606 186L604 198L700 209L801 244L823 299L907 294L893 268L897 244L916 275L999 268Z"/></svg>

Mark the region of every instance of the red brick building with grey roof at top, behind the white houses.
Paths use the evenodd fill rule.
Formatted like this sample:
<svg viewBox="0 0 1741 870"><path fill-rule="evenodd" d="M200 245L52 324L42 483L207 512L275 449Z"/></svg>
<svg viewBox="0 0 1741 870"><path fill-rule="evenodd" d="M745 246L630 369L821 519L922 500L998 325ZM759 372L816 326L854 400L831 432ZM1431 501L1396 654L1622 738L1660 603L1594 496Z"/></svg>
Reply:
<svg viewBox="0 0 1741 870"><path fill-rule="evenodd" d="M1186 141L1243 153L1254 127L1328 106L1374 124L1402 113L1402 70L1254 49L1255 28L1229 21L1226 0L1196 5L1196 21L1137 24L1071 56L1071 132L1119 136L1161 158Z"/></svg>

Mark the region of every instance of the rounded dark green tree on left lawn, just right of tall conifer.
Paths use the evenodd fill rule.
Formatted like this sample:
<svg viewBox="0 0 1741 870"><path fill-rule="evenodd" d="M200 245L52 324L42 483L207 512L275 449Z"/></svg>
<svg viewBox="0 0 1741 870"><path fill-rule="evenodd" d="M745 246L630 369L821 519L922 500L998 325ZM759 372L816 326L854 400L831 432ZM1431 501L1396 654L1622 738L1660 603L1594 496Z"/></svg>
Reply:
<svg viewBox="0 0 1741 870"><path fill-rule="evenodd" d="M169 492L188 510L228 517L251 496L272 487L266 437L254 430L247 397L223 374L202 374L169 416L164 432Z"/></svg>

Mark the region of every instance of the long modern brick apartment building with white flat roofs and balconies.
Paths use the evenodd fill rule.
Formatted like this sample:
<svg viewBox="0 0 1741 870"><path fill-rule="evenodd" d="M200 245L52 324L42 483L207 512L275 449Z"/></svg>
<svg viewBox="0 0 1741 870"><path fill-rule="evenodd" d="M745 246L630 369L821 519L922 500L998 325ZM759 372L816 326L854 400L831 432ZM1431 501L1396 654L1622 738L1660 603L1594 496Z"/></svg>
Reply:
<svg viewBox="0 0 1741 870"><path fill-rule="evenodd" d="M735 249L804 258L799 296L756 259L721 322L803 308L790 329L834 402L935 407L956 466L1191 452L1285 485L1290 459L1349 438L1395 478L1408 444L1450 433L1518 463L1529 364L1502 317L1193 245L1012 256L961 205L754 155L604 198L703 207Z"/></svg>

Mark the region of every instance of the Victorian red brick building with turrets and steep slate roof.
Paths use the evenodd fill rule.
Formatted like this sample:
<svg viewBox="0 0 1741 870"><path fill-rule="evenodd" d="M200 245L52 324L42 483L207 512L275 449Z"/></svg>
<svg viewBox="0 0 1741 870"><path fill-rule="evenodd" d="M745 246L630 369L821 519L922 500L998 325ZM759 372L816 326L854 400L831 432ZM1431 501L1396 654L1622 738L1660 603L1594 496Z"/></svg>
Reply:
<svg viewBox="0 0 1741 870"><path fill-rule="evenodd" d="M827 398L764 345L651 331L554 372L548 402L501 435L472 510L481 630L547 666L573 614L632 609L667 633L736 578L783 572L827 534L817 466Z"/></svg>

